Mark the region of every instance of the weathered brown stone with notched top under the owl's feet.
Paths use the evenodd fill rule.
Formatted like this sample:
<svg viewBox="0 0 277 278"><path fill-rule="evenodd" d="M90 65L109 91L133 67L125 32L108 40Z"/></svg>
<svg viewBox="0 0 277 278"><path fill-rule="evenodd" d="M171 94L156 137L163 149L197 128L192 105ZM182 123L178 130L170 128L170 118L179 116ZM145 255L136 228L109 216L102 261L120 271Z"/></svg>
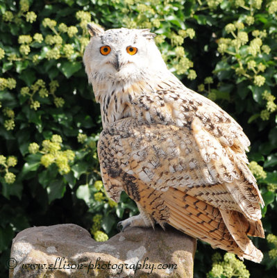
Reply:
<svg viewBox="0 0 277 278"><path fill-rule="evenodd" d="M12 241L10 278L192 278L196 240L171 227L129 228L96 242L75 224L33 227Z"/></svg>

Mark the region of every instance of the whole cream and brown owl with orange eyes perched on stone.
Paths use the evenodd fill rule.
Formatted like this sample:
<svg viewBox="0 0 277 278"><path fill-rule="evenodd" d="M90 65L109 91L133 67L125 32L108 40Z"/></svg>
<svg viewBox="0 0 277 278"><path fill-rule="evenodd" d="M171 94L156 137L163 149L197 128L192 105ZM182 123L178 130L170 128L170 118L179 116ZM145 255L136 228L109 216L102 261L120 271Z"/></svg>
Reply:
<svg viewBox="0 0 277 278"><path fill-rule="evenodd" d="M149 29L87 28L83 61L101 106L103 184L115 202L125 191L140 211L121 229L169 224L260 262L248 236L265 237L264 202L242 127L167 69Z"/></svg>

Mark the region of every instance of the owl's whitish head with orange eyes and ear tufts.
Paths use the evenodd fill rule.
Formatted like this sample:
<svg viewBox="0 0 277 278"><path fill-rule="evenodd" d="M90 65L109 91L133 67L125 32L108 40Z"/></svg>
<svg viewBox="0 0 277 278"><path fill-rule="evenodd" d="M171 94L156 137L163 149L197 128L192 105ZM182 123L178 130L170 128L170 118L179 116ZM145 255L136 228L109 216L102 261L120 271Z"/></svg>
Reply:
<svg viewBox="0 0 277 278"><path fill-rule="evenodd" d="M133 82L155 72L167 70L149 29L110 29L87 24L91 35L83 57L90 83Z"/></svg>

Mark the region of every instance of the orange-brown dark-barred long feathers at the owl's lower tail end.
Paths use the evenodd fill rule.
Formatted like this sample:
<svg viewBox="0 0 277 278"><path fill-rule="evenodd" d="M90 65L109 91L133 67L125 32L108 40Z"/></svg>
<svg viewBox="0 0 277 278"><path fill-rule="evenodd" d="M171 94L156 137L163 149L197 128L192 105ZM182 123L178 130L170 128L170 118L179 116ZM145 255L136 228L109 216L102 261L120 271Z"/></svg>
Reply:
<svg viewBox="0 0 277 278"><path fill-rule="evenodd" d="M262 261L262 252L246 236L245 223L237 218L237 212L219 211L176 188L169 188L163 197L170 210L167 221L171 226L210 243L212 247L219 247L256 263ZM251 234L255 233L251 231Z"/></svg>

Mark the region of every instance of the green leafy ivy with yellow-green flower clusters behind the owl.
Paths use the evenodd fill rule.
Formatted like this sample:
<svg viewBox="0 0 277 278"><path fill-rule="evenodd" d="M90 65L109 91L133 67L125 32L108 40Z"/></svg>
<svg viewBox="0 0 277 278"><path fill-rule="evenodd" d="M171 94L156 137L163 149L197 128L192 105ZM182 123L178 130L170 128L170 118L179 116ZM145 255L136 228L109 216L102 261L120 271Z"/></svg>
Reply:
<svg viewBox="0 0 277 278"><path fill-rule="evenodd" d="M194 277L275 277L277 266L277 1L0 0L0 275L27 227L75 223L96 240L135 215L106 197L99 106L82 63L85 26L151 28L168 67L217 102L251 140L265 199L261 264L198 243Z"/></svg>

